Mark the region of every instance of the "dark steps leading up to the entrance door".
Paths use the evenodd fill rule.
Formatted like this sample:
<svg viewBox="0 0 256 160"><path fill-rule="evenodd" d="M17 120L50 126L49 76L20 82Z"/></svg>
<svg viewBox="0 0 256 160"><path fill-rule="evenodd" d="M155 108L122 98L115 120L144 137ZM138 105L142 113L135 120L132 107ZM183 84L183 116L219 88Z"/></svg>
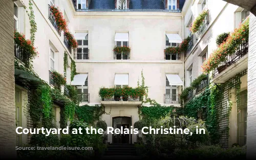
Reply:
<svg viewBox="0 0 256 160"><path fill-rule="evenodd" d="M133 144L110 144L105 151L105 156L136 156L136 148Z"/></svg>

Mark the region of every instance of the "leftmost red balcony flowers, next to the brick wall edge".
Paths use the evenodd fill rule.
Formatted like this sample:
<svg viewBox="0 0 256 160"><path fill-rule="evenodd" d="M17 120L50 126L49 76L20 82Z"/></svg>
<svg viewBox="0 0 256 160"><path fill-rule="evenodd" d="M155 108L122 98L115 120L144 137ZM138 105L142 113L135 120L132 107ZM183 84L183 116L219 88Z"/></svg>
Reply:
<svg viewBox="0 0 256 160"><path fill-rule="evenodd" d="M31 40L26 39L24 34L14 31L14 43L23 49L25 51L24 53L28 54L24 56L28 56L29 59L33 59L38 55L38 52L31 43Z"/></svg>

